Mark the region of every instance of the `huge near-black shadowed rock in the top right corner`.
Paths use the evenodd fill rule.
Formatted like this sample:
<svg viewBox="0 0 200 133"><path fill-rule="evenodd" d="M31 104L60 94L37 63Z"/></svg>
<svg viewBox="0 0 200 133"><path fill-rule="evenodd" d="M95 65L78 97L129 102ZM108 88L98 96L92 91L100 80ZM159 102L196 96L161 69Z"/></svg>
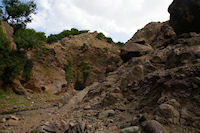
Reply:
<svg viewBox="0 0 200 133"><path fill-rule="evenodd" d="M200 1L174 0L168 11L170 24L177 34L200 32Z"/></svg>

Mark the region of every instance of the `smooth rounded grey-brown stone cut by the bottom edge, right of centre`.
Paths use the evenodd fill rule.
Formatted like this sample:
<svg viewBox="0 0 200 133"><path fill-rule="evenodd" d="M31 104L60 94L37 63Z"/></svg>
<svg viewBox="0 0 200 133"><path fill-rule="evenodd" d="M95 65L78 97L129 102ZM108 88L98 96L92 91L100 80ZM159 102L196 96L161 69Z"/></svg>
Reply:
<svg viewBox="0 0 200 133"><path fill-rule="evenodd" d="M166 133L166 129L155 120L145 121L142 126L146 133Z"/></svg>

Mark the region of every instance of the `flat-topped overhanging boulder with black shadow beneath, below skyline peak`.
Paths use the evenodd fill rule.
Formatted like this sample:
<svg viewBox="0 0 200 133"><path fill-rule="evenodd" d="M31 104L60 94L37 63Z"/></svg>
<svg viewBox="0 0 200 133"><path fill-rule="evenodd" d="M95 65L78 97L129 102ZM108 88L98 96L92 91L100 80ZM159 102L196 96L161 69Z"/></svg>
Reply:
<svg viewBox="0 0 200 133"><path fill-rule="evenodd" d="M140 57L151 51L153 51L153 48L150 45L130 42L121 49L120 56L124 62L127 62L132 57Z"/></svg>

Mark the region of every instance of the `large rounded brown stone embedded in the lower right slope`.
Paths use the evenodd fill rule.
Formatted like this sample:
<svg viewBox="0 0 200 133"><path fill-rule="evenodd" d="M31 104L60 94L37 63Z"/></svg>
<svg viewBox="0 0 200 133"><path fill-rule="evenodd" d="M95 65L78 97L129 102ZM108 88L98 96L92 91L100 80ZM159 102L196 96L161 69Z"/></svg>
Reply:
<svg viewBox="0 0 200 133"><path fill-rule="evenodd" d="M159 112L163 117L165 117L169 122L178 124L180 119L179 112L169 104L161 104L159 106Z"/></svg>

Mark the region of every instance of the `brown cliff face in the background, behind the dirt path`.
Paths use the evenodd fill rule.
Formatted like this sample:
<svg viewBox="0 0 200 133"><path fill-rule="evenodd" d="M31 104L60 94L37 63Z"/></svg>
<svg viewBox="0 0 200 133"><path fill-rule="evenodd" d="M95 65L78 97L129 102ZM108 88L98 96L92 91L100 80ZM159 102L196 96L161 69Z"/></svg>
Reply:
<svg viewBox="0 0 200 133"><path fill-rule="evenodd" d="M29 51L28 55L33 58L34 66L32 79L24 84L26 89L41 92L49 91L59 93L73 90L75 76L81 70L83 62L89 66L89 77L86 85L101 80L108 67L112 71L122 62L120 50L114 44L99 40L97 33L84 33L76 36L63 38L60 42L46 44L43 48L46 54L37 56L35 51ZM64 67L68 60L73 61L74 75L71 83L66 82ZM80 73L80 80L82 80Z"/></svg>

